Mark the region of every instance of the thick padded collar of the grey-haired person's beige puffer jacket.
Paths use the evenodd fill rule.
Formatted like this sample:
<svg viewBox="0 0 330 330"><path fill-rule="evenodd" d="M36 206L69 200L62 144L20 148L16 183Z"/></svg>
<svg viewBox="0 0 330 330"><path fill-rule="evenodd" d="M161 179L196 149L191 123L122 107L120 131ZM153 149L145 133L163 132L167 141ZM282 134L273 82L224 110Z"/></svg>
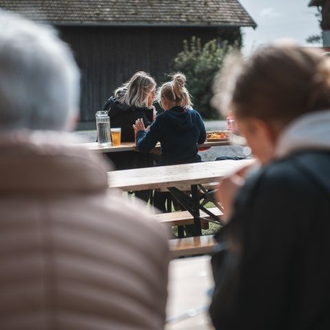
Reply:
<svg viewBox="0 0 330 330"><path fill-rule="evenodd" d="M65 133L19 131L0 136L0 193L104 192L109 166Z"/></svg>

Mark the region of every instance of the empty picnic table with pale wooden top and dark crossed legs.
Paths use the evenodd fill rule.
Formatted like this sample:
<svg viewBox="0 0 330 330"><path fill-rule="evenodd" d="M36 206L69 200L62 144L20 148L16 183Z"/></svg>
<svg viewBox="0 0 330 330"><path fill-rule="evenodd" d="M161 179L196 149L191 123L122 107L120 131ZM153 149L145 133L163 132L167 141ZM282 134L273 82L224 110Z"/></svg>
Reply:
<svg viewBox="0 0 330 330"><path fill-rule="evenodd" d="M243 166L250 165L254 159L223 160L218 162L201 162L151 168L135 168L131 170L115 170L108 173L109 187L124 191L168 188L175 199L194 217L193 236L201 235L201 219L199 210L208 214L214 221L218 218L199 203L199 184L220 181ZM191 197L182 188L190 186Z"/></svg>

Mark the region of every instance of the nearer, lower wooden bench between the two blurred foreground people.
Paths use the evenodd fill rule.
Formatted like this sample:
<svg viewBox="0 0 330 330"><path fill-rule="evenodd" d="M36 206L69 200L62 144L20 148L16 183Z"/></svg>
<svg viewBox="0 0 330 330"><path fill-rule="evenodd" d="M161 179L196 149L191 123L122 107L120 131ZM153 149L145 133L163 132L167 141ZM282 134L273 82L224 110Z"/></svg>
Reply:
<svg viewBox="0 0 330 330"><path fill-rule="evenodd" d="M216 245L217 242L214 240L213 235L169 240L170 252L174 258L211 253Z"/></svg>

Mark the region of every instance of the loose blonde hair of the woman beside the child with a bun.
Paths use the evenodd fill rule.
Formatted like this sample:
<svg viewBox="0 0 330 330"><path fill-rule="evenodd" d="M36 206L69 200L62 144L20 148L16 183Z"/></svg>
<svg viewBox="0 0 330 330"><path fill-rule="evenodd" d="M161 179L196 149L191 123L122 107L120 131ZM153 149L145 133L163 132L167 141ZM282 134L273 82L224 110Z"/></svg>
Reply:
<svg viewBox="0 0 330 330"><path fill-rule="evenodd" d="M148 107L148 96L156 87L155 80L146 72L136 72L134 76L115 90L121 103L133 107Z"/></svg>

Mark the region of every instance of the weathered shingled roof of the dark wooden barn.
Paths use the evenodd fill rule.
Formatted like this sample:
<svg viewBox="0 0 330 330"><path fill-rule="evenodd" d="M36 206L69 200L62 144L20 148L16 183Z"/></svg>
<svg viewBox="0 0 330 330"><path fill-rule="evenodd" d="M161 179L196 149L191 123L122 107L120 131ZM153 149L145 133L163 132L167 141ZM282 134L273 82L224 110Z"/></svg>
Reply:
<svg viewBox="0 0 330 330"><path fill-rule="evenodd" d="M256 27L238 0L0 0L0 8L55 25Z"/></svg>

